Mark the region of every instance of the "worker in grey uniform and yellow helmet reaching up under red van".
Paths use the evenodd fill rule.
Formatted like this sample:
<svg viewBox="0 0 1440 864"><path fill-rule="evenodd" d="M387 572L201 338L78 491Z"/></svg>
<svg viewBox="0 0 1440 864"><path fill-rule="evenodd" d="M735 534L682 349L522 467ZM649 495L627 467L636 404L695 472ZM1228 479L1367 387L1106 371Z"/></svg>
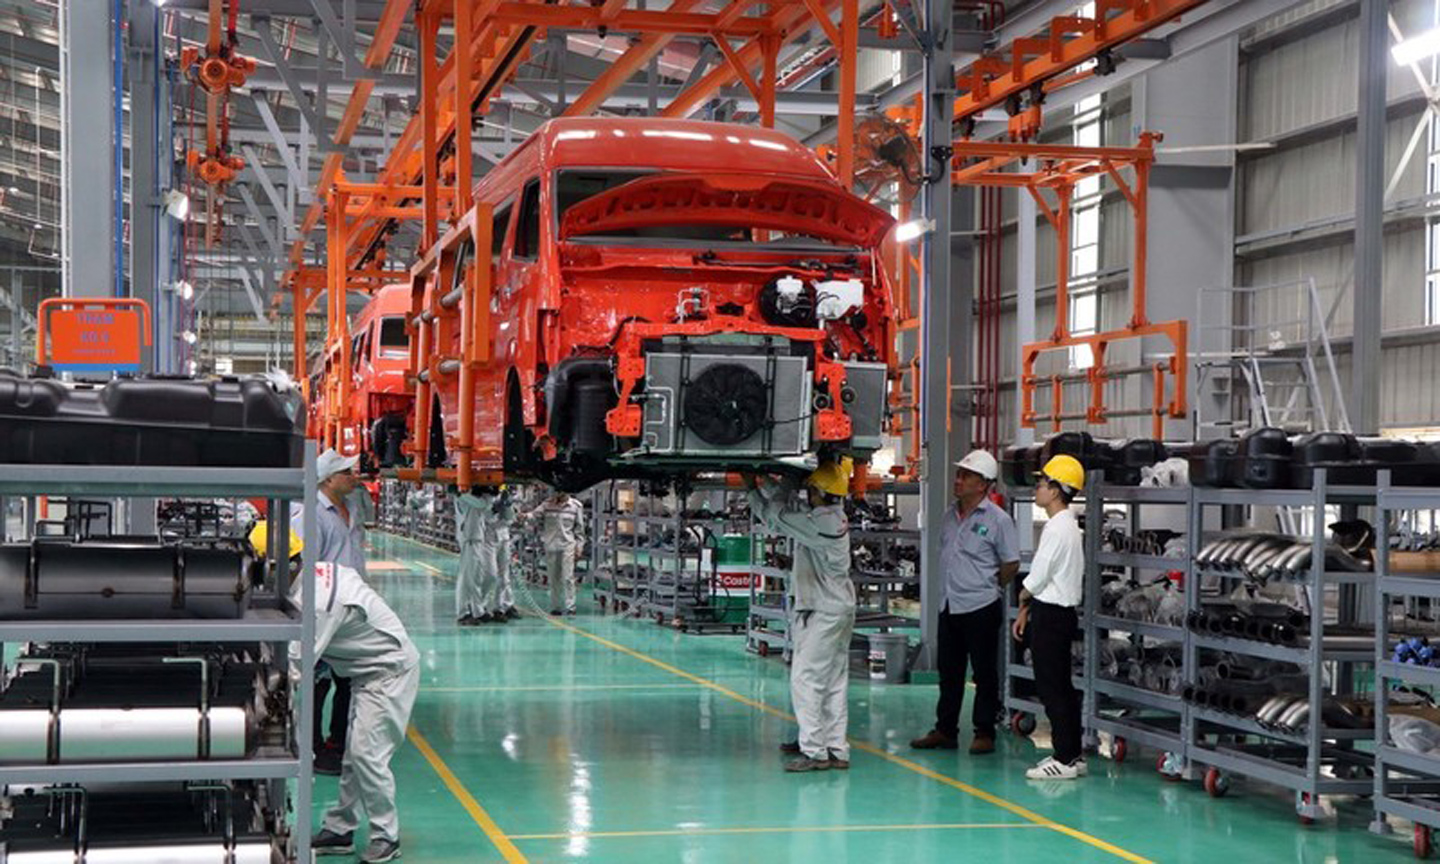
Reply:
<svg viewBox="0 0 1440 864"><path fill-rule="evenodd" d="M848 462L848 459L847 459ZM855 629L855 586L850 580L850 521L842 505L850 467L824 462L805 481L808 505L793 484L747 478L750 508L778 534L795 541L789 579L791 704L801 734L783 750L798 756L788 772L850 768L850 636Z"/></svg>

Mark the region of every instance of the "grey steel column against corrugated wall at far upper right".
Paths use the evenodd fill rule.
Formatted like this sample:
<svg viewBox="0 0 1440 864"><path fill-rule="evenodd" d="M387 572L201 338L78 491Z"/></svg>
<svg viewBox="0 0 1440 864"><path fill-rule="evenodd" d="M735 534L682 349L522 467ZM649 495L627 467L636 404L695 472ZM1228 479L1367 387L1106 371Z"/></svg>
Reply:
<svg viewBox="0 0 1440 864"><path fill-rule="evenodd" d="M1385 0L1361 0L1359 115L1355 130L1355 285L1351 304L1355 350L1351 356L1351 425L1359 435L1380 432L1385 209L1385 78L1390 26Z"/></svg>

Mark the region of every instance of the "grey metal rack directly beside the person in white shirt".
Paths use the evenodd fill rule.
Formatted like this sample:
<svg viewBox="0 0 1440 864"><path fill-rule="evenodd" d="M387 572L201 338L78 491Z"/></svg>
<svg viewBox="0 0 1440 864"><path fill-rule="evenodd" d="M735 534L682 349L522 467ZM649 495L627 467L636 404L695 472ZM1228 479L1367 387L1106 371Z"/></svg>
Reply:
<svg viewBox="0 0 1440 864"><path fill-rule="evenodd" d="M1188 706L1181 697L1103 678L1097 670L1096 655L1100 641L1116 634L1125 635L1138 645L1143 645L1145 639L1161 639L1178 642L1184 649L1189 639L1189 631L1184 626L1103 615L1100 612L1102 573L1104 569L1113 570L1115 567L1122 567L1129 575L1181 570L1185 573L1185 582L1189 583L1194 556L1171 559L1155 554L1102 552L1102 531L1099 528L1104 524L1107 504L1126 504L1129 507L1130 536L1142 527L1145 514L1151 513L1152 508L1184 507L1188 518L1191 488L1119 487L1103 482L1099 472L1094 472L1090 477L1090 490L1092 494L1086 498L1086 586L1081 619L1086 639L1084 727L1090 734L1103 732L1113 736L1110 755L1117 762L1125 759L1128 742L1132 740L1165 753L1184 753L1184 721Z"/></svg>

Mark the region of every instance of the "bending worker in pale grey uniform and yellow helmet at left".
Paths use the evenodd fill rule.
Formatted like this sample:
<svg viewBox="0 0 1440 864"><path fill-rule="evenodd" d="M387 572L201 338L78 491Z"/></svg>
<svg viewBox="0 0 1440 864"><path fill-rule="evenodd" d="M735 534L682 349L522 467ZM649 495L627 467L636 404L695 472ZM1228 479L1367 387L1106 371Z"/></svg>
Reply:
<svg viewBox="0 0 1440 864"><path fill-rule="evenodd" d="M268 523L251 531L251 544L265 554ZM291 575L301 572L304 544L289 533ZM395 805L395 773L390 757L405 742L410 708L420 687L420 654L410 642L400 618L360 573L330 562L315 573L315 658L350 680L350 747L340 769L340 802L330 808L311 841L317 855L348 855L360 819L370 819L370 842L361 864L382 864L400 857L400 821ZM291 602L301 608L300 579L291 588ZM291 658L300 647L291 644ZM292 671L292 674L297 674Z"/></svg>

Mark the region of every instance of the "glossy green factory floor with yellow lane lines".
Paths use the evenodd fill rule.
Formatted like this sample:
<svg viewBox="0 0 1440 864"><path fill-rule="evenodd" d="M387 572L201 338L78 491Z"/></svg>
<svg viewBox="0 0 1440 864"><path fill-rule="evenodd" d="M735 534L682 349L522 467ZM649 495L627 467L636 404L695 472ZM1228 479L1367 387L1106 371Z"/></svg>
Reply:
<svg viewBox="0 0 1440 864"><path fill-rule="evenodd" d="M1302 827L1287 793L1237 780L1215 801L1198 783L1162 780L1153 755L1092 756L1089 778L1038 783L1024 769L1040 753L1014 736L991 757L910 750L933 719L924 685L851 684L851 737L894 759L857 750L850 772L786 775L776 744L793 732L765 710L788 711L786 668L747 654L742 638L583 603L566 619L575 629L527 618L461 631L455 556L377 534L370 560L389 563L372 582L423 664L412 742L395 760L410 864L504 861L507 842L511 861L1411 858L1408 827L1390 838L1367 831L1367 802ZM336 780L320 778L315 798L318 819Z"/></svg>

